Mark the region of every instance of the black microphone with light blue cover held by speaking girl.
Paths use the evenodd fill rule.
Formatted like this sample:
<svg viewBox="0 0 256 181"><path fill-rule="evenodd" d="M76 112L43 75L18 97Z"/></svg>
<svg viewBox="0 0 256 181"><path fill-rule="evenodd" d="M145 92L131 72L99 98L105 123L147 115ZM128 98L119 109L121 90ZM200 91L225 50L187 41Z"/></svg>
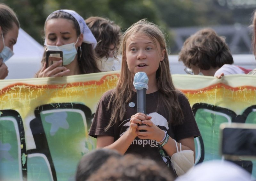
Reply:
<svg viewBox="0 0 256 181"><path fill-rule="evenodd" d="M146 91L148 90L147 74L145 72L137 72L133 79L133 85L137 91L137 112L146 114Z"/></svg>

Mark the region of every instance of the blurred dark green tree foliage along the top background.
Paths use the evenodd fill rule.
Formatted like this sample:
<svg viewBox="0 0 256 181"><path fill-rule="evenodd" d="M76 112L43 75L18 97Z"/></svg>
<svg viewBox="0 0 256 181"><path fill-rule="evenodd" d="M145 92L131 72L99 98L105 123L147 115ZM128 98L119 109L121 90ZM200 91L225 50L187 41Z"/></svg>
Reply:
<svg viewBox="0 0 256 181"><path fill-rule="evenodd" d="M224 0L1 0L18 15L21 28L43 44L44 21L58 9L71 9L84 19L101 16L114 20L124 31L139 19L167 27L234 24L249 25L253 7L230 9Z"/></svg>

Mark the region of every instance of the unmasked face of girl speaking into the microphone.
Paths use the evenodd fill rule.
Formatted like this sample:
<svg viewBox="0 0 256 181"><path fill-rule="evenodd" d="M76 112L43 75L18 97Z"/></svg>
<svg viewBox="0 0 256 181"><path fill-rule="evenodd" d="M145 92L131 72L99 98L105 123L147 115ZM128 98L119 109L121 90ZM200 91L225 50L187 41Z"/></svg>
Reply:
<svg viewBox="0 0 256 181"><path fill-rule="evenodd" d="M136 33L126 41L126 62L133 74L145 72L150 79L156 78L156 70L160 61L164 60L165 49L161 50L157 40L156 45L147 35Z"/></svg>

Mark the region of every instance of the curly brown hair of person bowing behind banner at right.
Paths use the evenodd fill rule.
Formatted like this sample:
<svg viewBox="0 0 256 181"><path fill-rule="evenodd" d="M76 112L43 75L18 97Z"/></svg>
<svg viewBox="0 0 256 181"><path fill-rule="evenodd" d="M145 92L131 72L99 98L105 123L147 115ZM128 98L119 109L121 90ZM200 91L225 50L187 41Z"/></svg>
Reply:
<svg viewBox="0 0 256 181"><path fill-rule="evenodd" d="M181 48L179 61L188 68L195 65L202 70L234 63L225 39L211 28L201 29L188 37Z"/></svg>

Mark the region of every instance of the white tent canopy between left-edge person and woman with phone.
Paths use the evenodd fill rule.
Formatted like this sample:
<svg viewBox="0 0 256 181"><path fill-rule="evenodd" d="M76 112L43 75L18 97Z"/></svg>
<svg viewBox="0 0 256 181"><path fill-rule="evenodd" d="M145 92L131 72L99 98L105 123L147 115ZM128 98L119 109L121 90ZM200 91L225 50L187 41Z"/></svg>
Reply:
<svg viewBox="0 0 256 181"><path fill-rule="evenodd" d="M20 28L13 52L6 62L9 73L5 79L33 78L41 67L44 47Z"/></svg>

